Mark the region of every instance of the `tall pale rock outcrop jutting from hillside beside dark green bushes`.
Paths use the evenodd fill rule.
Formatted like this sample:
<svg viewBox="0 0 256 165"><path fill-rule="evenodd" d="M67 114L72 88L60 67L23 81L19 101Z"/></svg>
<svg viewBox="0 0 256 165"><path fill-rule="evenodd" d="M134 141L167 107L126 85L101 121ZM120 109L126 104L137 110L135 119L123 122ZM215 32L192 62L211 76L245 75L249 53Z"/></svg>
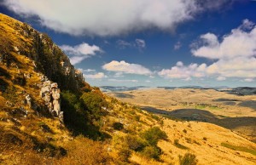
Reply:
<svg viewBox="0 0 256 165"><path fill-rule="evenodd" d="M41 81L43 84L40 91L40 96L44 100L49 113L51 113L53 117L59 117L59 119L63 122L63 111L61 111L60 100L61 90L58 88L58 84L50 82L47 77L42 78Z"/></svg>

